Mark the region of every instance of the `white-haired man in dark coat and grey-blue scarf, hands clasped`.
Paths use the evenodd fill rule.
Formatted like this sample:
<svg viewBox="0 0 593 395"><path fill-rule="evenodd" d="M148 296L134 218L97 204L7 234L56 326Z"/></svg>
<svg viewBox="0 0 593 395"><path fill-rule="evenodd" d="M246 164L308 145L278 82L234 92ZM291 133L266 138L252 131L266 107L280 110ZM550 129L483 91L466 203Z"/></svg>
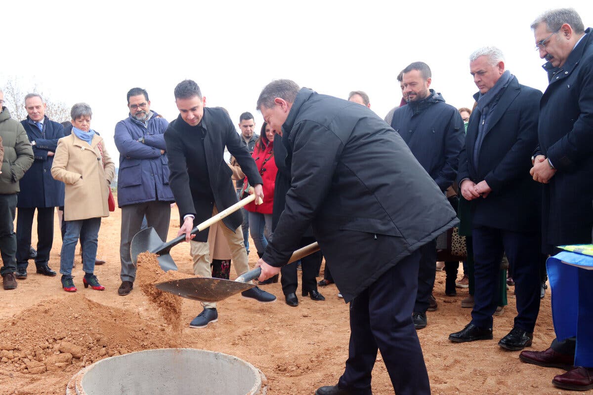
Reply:
<svg viewBox="0 0 593 395"><path fill-rule="evenodd" d="M502 52L484 47L470 56L480 92L460 154L460 190L471 201L476 293L471 322L451 333L452 342L492 339L500 260L506 253L517 295L514 326L498 345L520 350L531 345L540 309L540 220L531 153L537 145L541 92L519 84L505 70Z"/></svg>

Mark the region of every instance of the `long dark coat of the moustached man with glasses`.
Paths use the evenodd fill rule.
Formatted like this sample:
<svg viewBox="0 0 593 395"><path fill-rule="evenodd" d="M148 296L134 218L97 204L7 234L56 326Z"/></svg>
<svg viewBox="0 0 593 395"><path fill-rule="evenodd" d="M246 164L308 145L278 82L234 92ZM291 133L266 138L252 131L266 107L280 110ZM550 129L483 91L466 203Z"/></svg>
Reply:
<svg viewBox="0 0 593 395"><path fill-rule="evenodd" d="M593 31L562 68L548 62L550 84L540 101L539 147L556 174L544 184L543 242L558 246L591 242L593 227ZM549 251L549 250L548 250Z"/></svg>

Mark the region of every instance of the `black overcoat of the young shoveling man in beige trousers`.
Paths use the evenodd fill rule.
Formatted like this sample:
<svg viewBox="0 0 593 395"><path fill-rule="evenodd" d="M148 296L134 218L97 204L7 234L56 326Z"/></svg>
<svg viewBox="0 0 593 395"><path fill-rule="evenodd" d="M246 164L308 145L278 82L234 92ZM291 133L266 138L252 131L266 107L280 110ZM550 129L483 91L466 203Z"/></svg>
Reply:
<svg viewBox="0 0 593 395"><path fill-rule="evenodd" d="M237 195L231 181L232 172L223 156L225 146L231 155L237 158L249 184L262 184L262 176L257 171L256 163L246 146L241 144L241 137L224 110L205 107L200 125L203 127L203 136L201 131L188 128L186 121L179 116L165 131L170 169L169 186L179 209L180 222L183 223L184 215L195 214L194 226L212 216L214 204L218 211L222 211L237 203ZM202 137L208 169L196 165L199 163L196 155L202 153L196 152L195 147L201 144L197 143L197 139ZM208 171L210 185L199 185L199 182L196 182L196 178L199 178L197 175L203 171ZM205 188L210 188L212 194L205 194ZM204 198L205 195L211 195L213 200ZM243 216L241 211L235 211L222 221L229 229L235 230L243 223ZM206 242L208 229L198 233L194 240Z"/></svg>

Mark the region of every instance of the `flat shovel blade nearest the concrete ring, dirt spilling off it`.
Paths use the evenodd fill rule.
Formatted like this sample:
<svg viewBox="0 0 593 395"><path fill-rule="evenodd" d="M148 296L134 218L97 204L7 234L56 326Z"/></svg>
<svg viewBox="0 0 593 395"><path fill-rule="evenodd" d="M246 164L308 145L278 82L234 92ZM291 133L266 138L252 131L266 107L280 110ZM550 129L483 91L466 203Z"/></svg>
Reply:
<svg viewBox="0 0 593 395"><path fill-rule="evenodd" d="M221 278L196 277L159 282L155 286L161 291L183 298L202 302L218 302L234 294L247 291L255 287L255 284Z"/></svg>

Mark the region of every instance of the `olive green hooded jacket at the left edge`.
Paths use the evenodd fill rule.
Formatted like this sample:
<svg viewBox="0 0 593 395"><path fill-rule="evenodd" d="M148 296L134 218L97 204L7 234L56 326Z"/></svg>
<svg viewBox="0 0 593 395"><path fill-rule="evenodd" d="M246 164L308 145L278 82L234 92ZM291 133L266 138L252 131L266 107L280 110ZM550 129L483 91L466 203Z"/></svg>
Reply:
<svg viewBox="0 0 593 395"><path fill-rule="evenodd" d="M4 146L0 195L12 195L20 191L18 181L33 165L33 149L23 125L10 117L6 107L0 113L0 137Z"/></svg>

